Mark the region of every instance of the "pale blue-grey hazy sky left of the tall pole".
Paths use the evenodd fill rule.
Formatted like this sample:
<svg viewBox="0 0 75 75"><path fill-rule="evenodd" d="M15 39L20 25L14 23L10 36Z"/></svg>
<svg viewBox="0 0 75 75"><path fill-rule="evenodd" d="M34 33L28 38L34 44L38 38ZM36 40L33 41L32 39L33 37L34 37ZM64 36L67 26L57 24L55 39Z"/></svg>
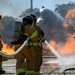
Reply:
<svg viewBox="0 0 75 75"><path fill-rule="evenodd" d="M18 17L28 8L30 8L29 0L0 0L0 11L4 16Z"/></svg>

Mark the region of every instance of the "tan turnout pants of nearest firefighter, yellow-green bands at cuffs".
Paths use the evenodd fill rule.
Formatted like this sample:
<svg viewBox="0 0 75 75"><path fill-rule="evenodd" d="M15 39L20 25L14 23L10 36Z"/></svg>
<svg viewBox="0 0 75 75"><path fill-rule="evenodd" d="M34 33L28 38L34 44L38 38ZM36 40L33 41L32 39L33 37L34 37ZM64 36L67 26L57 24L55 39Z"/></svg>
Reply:
<svg viewBox="0 0 75 75"><path fill-rule="evenodd" d="M16 73L26 72L26 75L33 74L33 55L32 48L25 46L16 56Z"/></svg>

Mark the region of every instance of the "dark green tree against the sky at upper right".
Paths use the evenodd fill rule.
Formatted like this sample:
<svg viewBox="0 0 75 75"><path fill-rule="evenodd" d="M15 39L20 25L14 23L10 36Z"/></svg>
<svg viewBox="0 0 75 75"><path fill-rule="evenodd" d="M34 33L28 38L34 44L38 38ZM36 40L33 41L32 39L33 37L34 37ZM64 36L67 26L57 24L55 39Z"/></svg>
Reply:
<svg viewBox="0 0 75 75"><path fill-rule="evenodd" d="M73 2L69 2L68 4L56 4L55 5L55 12L60 14L62 17L65 17L65 15L67 14L68 10L75 8L75 3Z"/></svg>

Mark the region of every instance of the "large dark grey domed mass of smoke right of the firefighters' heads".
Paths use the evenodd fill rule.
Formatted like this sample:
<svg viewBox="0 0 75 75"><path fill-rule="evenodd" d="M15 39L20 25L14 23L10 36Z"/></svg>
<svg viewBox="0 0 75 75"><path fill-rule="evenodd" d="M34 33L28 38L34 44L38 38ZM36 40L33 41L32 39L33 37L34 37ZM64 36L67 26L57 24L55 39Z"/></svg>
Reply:
<svg viewBox="0 0 75 75"><path fill-rule="evenodd" d="M39 10L38 25L42 28L45 33L45 38L47 41L54 40L57 43L64 43L67 41L68 29L63 26L68 20L57 15L52 10L42 8ZM37 14L34 13L36 16ZM69 31L70 32L70 31Z"/></svg>

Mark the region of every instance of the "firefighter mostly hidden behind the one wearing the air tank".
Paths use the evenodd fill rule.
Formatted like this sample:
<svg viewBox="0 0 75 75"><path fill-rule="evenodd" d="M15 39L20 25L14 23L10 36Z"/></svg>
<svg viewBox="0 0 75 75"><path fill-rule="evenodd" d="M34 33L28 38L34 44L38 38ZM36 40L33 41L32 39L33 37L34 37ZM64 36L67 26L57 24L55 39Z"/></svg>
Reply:
<svg viewBox="0 0 75 75"><path fill-rule="evenodd" d="M35 51L35 56L34 56L34 72L35 75L40 71L40 67L42 65L42 50L43 50L43 45L42 43L44 43L45 41L45 37L44 37L44 32L43 30L40 28L40 26L37 25L37 17L34 14L31 14L31 17L33 17L34 19L34 27L36 29L36 31L38 32L38 39L37 40L39 43L41 43L41 46L34 46L34 51ZM36 43L37 43L36 41ZM39 74L38 74L39 75Z"/></svg>

